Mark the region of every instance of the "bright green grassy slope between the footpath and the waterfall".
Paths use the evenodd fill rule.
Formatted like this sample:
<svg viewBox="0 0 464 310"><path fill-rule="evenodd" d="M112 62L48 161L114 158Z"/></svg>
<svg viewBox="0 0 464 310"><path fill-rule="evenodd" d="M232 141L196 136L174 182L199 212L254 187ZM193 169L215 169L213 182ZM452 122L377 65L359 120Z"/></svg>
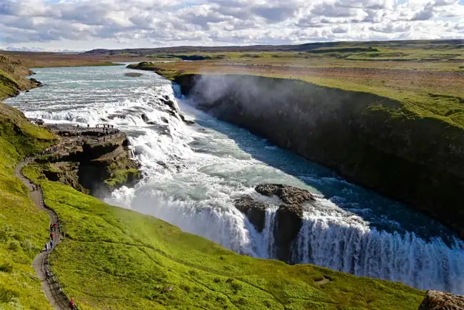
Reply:
<svg viewBox="0 0 464 310"><path fill-rule="evenodd" d="M64 224L51 264L82 309L417 309L423 298L398 283L240 256L45 181L37 165L25 171ZM316 284L323 276L332 281Z"/></svg>

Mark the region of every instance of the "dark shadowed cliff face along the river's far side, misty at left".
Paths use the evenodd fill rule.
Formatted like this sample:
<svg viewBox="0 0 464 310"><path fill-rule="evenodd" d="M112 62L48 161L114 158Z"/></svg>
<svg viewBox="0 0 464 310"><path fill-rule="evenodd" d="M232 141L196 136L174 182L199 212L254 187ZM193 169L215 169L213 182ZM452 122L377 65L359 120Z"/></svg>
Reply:
<svg viewBox="0 0 464 310"><path fill-rule="evenodd" d="M198 108L404 201L464 239L464 131L400 102L303 81L183 75Z"/></svg>

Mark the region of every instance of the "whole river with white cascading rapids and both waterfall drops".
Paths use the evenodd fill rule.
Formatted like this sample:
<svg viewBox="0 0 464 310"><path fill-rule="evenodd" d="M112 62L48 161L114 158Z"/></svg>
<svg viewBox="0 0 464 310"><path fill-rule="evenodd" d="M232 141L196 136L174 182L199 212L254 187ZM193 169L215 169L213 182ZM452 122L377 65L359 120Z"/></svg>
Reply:
<svg viewBox="0 0 464 310"><path fill-rule="evenodd" d="M278 201L256 194L253 186L298 186L321 197L316 206L307 206L294 260L464 294L464 243L450 231L177 99L182 113L196 120L186 126L158 100L176 100L176 86L166 79L151 72L124 76L133 72L124 66L34 71L46 85L7 104L48 123L107 121L128 134L144 177L133 189L114 191L107 202L151 214L238 253L273 258ZM143 121L143 113L153 125ZM273 204L262 233L233 206L242 194Z"/></svg>

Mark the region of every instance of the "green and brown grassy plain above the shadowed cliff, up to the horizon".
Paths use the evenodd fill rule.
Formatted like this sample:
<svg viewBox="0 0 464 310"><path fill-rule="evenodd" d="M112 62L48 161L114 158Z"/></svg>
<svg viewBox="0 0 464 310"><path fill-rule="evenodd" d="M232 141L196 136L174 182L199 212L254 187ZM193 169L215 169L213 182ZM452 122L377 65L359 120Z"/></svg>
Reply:
<svg viewBox="0 0 464 310"><path fill-rule="evenodd" d="M278 46L276 46L276 49ZM159 74L252 74L378 94L403 103L386 112L464 128L464 45L459 41L331 42L299 51L195 51L213 61L155 63ZM178 51L180 53L181 51ZM161 52L152 56L162 56ZM217 60L221 58L221 60Z"/></svg>

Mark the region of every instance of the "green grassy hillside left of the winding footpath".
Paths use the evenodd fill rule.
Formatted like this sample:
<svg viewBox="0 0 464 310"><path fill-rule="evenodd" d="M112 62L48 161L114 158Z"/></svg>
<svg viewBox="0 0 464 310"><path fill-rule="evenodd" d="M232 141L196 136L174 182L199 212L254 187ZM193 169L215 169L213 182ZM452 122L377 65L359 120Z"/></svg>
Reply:
<svg viewBox="0 0 464 310"><path fill-rule="evenodd" d="M47 240L49 219L13 174L24 156L49 145L51 139L48 131L0 103L0 309L50 309L31 267Z"/></svg>

